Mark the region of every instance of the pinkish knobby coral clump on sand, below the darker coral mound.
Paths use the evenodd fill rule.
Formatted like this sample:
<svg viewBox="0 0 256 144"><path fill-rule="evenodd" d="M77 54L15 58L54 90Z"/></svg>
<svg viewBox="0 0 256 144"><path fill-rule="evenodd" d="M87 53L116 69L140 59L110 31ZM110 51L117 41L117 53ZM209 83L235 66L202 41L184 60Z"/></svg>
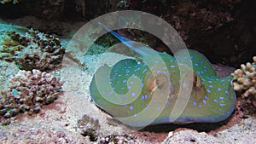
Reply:
<svg viewBox="0 0 256 144"><path fill-rule="evenodd" d="M37 113L43 105L55 101L62 82L47 72L20 70L9 80L0 95L0 115L11 118L20 112Z"/></svg>

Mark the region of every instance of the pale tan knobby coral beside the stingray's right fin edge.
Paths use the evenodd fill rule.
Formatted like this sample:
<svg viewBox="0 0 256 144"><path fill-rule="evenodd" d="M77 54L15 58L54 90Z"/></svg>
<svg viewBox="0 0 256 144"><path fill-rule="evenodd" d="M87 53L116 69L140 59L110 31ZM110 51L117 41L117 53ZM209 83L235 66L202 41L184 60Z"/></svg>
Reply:
<svg viewBox="0 0 256 144"><path fill-rule="evenodd" d="M256 56L253 56L253 63L241 64L241 69L231 73L234 89L241 93L242 98L252 101L256 107Z"/></svg>

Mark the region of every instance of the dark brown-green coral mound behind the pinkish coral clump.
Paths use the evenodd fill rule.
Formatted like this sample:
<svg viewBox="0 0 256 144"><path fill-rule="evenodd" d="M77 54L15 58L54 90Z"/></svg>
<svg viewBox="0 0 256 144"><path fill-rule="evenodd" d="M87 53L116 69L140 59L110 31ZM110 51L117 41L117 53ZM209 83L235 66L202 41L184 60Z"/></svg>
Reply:
<svg viewBox="0 0 256 144"><path fill-rule="evenodd" d="M15 60L20 69L46 71L61 64L65 49L58 38L33 30L26 36L16 32L8 32L8 35L2 43L0 58Z"/></svg>

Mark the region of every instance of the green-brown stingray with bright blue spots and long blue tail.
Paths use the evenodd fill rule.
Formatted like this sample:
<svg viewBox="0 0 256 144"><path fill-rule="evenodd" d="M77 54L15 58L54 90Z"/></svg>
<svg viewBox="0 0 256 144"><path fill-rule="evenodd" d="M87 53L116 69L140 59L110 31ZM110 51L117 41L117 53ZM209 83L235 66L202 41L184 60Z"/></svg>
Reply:
<svg viewBox="0 0 256 144"><path fill-rule="evenodd" d="M96 71L90 95L97 107L131 127L216 123L230 117L236 103L232 78L218 78L204 55L192 49L179 50L175 57L156 52L99 24L142 56Z"/></svg>

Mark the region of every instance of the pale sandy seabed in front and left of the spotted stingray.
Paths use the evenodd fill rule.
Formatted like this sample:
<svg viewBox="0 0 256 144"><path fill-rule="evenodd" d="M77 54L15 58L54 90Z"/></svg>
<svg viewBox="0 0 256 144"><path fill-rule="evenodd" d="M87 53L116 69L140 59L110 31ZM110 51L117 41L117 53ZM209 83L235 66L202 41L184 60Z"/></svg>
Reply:
<svg viewBox="0 0 256 144"><path fill-rule="evenodd" d="M49 106L43 107L38 114L32 116L20 114L14 118L14 123L2 125L0 127L1 143L99 143L100 141L109 143L110 135L118 137L118 140L112 141L113 143L125 143L125 141L129 143L256 142L256 119L250 116L241 118L237 124L216 131L214 135L187 128L170 132L137 131L114 122L107 113L102 112L90 101L89 86L96 67L104 64L113 65L124 58L123 55L113 53L103 55L102 59L91 55L86 63L87 69L92 69L91 71L84 71L75 63L64 60L62 68L52 72L65 82L64 91L59 98ZM214 67L217 67L217 71L220 72L227 69L224 66ZM84 115L92 119L89 122L92 127L96 124L98 136L96 141L91 141L90 136L81 135L78 121ZM158 129L157 125L155 129Z"/></svg>

